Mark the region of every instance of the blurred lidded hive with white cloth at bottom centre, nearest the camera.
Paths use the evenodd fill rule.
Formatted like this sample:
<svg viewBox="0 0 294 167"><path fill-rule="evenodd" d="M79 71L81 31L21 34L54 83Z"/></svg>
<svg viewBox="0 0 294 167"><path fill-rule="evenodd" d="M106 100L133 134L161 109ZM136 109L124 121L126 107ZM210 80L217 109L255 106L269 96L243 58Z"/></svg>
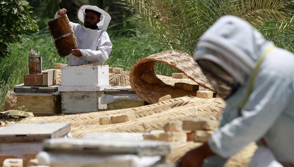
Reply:
<svg viewBox="0 0 294 167"><path fill-rule="evenodd" d="M47 139L38 159L50 162L50 167L137 167L164 161L169 151L169 143L162 141Z"/></svg>

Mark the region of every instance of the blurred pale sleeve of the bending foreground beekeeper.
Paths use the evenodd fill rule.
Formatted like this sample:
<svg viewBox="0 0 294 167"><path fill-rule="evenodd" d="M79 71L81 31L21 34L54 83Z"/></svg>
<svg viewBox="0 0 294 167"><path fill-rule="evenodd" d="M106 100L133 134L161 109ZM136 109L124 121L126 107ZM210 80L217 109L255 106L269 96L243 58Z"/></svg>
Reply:
<svg viewBox="0 0 294 167"><path fill-rule="evenodd" d="M292 96L291 82L277 71L261 71L241 115L216 130L208 145L228 158L253 141L258 141L273 126Z"/></svg>

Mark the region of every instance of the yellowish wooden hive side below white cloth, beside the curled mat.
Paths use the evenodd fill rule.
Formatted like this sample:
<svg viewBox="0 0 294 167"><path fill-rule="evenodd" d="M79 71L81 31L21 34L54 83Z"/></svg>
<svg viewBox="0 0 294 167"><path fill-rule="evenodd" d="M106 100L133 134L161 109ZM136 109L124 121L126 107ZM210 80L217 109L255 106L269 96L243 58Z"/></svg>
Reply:
<svg viewBox="0 0 294 167"><path fill-rule="evenodd" d="M144 101L121 100L107 104L107 110L118 110L123 108L134 108L144 106Z"/></svg>

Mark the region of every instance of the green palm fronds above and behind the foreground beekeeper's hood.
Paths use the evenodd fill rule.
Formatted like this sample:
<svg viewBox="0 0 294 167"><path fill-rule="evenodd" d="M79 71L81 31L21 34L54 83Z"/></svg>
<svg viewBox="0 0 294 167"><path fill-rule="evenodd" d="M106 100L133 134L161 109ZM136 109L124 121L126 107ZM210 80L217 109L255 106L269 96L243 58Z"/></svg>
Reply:
<svg viewBox="0 0 294 167"><path fill-rule="evenodd" d="M199 37L223 15L238 16L276 46L294 52L294 0L120 0L171 49L192 54Z"/></svg>

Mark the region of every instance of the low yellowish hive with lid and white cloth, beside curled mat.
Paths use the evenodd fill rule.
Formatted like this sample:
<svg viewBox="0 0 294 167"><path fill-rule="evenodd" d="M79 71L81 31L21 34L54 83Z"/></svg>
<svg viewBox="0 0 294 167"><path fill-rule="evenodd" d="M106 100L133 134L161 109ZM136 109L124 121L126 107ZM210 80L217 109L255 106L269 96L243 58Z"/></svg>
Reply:
<svg viewBox="0 0 294 167"><path fill-rule="evenodd" d="M133 108L144 106L145 101L138 97L131 86L113 86L104 89L103 101L107 103L107 110Z"/></svg>

